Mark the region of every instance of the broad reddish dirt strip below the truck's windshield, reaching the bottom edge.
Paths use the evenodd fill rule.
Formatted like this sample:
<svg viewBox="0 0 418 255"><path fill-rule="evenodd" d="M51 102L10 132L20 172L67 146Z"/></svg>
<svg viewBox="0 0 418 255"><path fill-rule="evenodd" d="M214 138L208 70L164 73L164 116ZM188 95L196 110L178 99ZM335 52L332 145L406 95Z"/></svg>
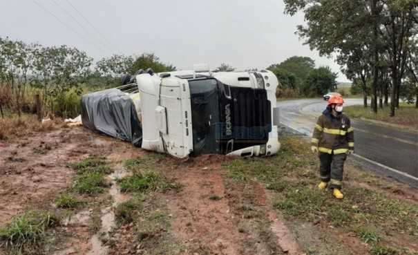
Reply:
<svg viewBox="0 0 418 255"><path fill-rule="evenodd" d="M234 214L225 197L218 163L199 159L196 167L177 168L169 176L184 184L184 190L167 196L173 229L185 242L209 247L213 254L240 254L244 236L236 231ZM205 162L205 167L203 167ZM211 200L219 196L219 200Z"/></svg>

